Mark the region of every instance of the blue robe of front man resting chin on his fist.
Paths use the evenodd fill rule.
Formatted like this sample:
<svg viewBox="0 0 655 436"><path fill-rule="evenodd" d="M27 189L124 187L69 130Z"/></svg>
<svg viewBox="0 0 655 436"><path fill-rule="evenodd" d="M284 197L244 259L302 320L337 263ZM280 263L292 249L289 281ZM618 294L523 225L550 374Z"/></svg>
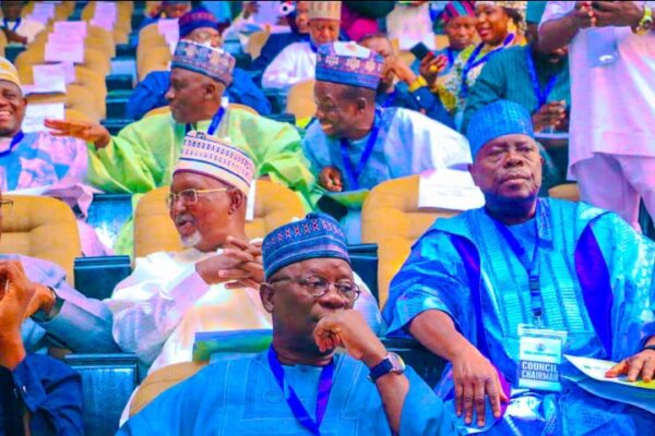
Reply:
<svg viewBox="0 0 655 436"><path fill-rule="evenodd" d="M321 435L391 435L369 370L344 354L335 354L333 387ZM315 419L322 367L284 365L288 386ZM401 435L450 435L452 420L441 400L412 368L403 405ZM287 390L286 388L285 390ZM121 427L118 435L309 435L291 413L266 360L266 352L224 359L192 378L166 390Z"/></svg>

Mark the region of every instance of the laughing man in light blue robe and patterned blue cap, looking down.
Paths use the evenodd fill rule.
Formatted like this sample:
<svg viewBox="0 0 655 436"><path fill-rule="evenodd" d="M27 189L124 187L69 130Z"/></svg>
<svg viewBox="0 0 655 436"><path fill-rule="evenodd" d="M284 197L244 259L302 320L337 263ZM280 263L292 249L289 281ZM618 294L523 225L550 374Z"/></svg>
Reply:
<svg viewBox="0 0 655 436"><path fill-rule="evenodd" d="M382 58L354 43L319 48L317 121L302 146L320 185L332 192L370 190L381 182L426 170L465 167L466 138L419 112L377 108ZM359 210L342 222L357 243Z"/></svg>

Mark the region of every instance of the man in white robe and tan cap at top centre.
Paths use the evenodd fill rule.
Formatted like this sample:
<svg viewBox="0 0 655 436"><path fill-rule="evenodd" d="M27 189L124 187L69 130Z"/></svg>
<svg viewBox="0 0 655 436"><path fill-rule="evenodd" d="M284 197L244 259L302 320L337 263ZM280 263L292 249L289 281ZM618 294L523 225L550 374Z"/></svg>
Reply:
<svg viewBox="0 0 655 436"><path fill-rule="evenodd" d="M288 88L314 77L317 49L338 39L341 1L309 2L309 41L286 47L264 70L264 88Z"/></svg>

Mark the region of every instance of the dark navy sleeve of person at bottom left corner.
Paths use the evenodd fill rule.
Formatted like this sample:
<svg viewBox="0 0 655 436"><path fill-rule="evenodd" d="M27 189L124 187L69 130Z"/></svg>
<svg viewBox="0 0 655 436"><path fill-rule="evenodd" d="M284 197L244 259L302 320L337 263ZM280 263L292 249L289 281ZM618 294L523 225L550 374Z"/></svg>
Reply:
<svg viewBox="0 0 655 436"><path fill-rule="evenodd" d="M31 412L33 435L83 435L82 380L66 364L29 354L13 371L21 400Z"/></svg>

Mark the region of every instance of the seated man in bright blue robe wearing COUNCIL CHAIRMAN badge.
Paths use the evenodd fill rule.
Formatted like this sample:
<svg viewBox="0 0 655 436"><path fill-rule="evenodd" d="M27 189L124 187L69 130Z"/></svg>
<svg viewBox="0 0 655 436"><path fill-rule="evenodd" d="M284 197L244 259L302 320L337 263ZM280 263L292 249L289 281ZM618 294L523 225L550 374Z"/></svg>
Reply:
<svg viewBox="0 0 655 436"><path fill-rule="evenodd" d="M390 335L450 362L437 389L461 434L652 433L647 397L641 409L592 395L561 354L620 361L607 377L653 383L655 244L614 213L537 197L521 105L481 108L467 134L486 206L438 219L414 245L384 307Z"/></svg>

